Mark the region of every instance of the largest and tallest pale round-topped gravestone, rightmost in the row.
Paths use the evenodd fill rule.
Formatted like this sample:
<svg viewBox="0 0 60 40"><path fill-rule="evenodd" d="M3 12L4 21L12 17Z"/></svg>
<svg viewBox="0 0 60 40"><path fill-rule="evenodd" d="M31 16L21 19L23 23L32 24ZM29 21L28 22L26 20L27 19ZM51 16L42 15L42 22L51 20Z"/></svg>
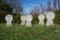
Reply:
<svg viewBox="0 0 60 40"><path fill-rule="evenodd" d="M55 18L55 13L53 11L49 11L46 14L46 18L47 18L47 23L46 26L53 26L53 19Z"/></svg>

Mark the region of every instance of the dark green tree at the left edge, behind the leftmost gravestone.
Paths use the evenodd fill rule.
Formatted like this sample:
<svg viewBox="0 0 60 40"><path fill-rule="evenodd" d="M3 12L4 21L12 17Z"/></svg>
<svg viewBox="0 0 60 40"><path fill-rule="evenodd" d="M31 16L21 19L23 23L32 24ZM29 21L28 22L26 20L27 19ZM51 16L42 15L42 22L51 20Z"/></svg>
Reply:
<svg viewBox="0 0 60 40"><path fill-rule="evenodd" d="M11 13L9 5L6 0L0 0L0 23L5 22L5 16Z"/></svg>

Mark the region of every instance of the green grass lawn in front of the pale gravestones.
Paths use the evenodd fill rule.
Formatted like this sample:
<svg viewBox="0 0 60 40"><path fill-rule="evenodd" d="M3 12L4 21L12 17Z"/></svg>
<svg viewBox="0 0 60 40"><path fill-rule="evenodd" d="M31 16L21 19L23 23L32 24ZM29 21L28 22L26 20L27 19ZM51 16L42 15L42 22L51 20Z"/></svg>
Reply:
<svg viewBox="0 0 60 40"><path fill-rule="evenodd" d="M60 40L60 25L32 27L0 24L0 40Z"/></svg>

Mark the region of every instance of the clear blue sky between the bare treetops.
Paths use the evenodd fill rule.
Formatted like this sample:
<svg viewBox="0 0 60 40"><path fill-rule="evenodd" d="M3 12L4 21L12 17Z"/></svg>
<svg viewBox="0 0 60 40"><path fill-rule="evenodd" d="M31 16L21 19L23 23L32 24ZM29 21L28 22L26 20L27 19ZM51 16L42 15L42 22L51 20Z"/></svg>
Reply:
<svg viewBox="0 0 60 40"><path fill-rule="evenodd" d="M34 6L46 5L46 3L47 0L22 0L22 5L26 12L29 12Z"/></svg>

